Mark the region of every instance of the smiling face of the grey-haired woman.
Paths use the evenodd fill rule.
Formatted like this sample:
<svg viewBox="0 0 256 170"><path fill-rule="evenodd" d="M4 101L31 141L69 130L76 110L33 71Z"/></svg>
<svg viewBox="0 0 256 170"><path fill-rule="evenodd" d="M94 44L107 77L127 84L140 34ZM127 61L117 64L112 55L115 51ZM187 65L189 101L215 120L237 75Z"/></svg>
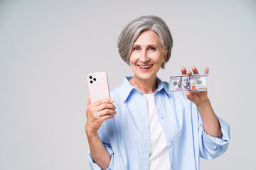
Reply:
<svg viewBox="0 0 256 170"><path fill-rule="evenodd" d="M146 30L134 42L129 57L129 64L134 77L147 80L155 79L161 64L166 60L168 50L163 50L159 35L153 30Z"/></svg>

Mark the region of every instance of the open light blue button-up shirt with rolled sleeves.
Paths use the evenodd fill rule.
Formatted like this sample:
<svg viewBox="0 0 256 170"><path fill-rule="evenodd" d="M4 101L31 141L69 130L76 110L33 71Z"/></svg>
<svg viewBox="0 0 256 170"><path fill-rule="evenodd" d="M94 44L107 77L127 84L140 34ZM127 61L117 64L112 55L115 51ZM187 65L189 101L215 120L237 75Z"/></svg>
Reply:
<svg viewBox="0 0 256 170"><path fill-rule="evenodd" d="M125 77L111 91L117 114L102 123L98 135L111 157L107 169L149 169L150 133L146 97ZM230 141L228 123L218 118L222 139L203 131L196 105L183 92L169 93L169 84L157 78L154 94L156 112L166 137L170 169L199 169L199 157L214 159L223 154ZM88 153L91 169L100 169Z"/></svg>

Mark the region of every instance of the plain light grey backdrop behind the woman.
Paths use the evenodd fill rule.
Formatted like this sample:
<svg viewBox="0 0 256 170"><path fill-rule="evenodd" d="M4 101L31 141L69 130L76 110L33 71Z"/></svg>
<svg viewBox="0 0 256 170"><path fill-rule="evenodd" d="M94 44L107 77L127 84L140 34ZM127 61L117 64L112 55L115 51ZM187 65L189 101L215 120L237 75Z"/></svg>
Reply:
<svg viewBox="0 0 256 170"><path fill-rule="evenodd" d="M132 19L160 16L174 38L158 76L210 67L209 97L230 123L228 151L201 169L256 169L255 1L0 1L0 169L89 169L90 72L110 89L132 70L117 38Z"/></svg>

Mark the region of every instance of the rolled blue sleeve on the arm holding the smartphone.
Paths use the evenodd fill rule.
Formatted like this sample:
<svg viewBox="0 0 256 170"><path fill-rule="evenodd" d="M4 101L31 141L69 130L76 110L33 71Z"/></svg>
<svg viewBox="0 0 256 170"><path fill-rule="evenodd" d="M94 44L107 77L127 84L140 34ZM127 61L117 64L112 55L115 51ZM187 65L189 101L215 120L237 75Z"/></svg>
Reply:
<svg viewBox="0 0 256 170"><path fill-rule="evenodd" d="M112 151L112 148L107 146L107 145L104 145L105 148L107 149L107 152L110 154L110 166L107 167L106 170L112 170L114 169L114 152ZM92 155L90 154L90 150L87 154L87 157L89 159L89 163L90 163L90 168L92 170L101 170L100 166L98 164L96 164L93 160L92 160Z"/></svg>

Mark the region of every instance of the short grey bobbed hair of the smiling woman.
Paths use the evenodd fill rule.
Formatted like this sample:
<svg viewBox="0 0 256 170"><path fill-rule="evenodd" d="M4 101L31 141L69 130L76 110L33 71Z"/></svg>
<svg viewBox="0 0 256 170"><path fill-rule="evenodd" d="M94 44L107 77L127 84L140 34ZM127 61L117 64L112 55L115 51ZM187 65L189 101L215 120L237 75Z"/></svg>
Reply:
<svg viewBox="0 0 256 170"><path fill-rule="evenodd" d="M119 55L121 55L124 62L129 64L132 46L139 35L145 30L153 30L156 32L159 35L163 50L168 50L166 60L161 65L161 68L164 69L164 65L171 57L171 48L173 47L174 41L166 23L157 16L141 16L134 19L124 27L124 30L120 33L117 41Z"/></svg>

